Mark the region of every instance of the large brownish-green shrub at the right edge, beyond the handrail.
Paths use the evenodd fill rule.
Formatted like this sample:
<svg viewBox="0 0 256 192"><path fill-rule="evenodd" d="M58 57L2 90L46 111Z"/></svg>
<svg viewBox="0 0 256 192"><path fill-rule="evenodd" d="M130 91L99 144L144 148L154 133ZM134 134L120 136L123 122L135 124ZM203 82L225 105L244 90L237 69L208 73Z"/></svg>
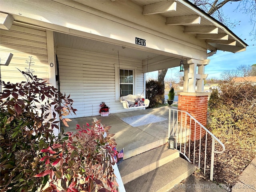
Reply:
<svg viewBox="0 0 256 192"><path fill-rule="evenodd" d="M208 125L218 138L232 140L235 135L237 142L248 146L256 140L256 86L224 82L219 87L220 92L213 90L208 102Z"/></svg>

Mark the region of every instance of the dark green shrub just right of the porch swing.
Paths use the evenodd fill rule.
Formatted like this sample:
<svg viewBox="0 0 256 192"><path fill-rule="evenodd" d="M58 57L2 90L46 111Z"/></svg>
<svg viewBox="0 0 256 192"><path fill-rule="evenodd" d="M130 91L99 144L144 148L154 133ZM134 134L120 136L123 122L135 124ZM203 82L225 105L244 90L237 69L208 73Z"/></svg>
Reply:
<svg viewBox="0 0 256 192"><path fill-rule="evenodd" d="M150 100L148 108L154 108L164 104L164 84L155 80L147 81L146 98Z"/></svg>

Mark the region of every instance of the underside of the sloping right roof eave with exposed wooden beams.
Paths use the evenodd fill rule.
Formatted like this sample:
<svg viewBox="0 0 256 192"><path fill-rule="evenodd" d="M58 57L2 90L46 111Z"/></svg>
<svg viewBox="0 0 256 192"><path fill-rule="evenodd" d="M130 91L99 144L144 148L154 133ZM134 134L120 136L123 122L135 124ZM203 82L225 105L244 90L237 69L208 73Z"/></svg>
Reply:
<svg viewBox="0 0 256 192"><path fill-rule="evenodd" d="M197 38L204 39L210 51L223 50L228 52L240 52L244 51L246 46L248 46L226 26L188 1L132 0L132 2L142 6L142 14L144 14L146 9L150 9L150 14L159 14L165 17L166 24L168 20L171 20L170 23L172 25L184 26L184 33L192 33L195 34ZM170 7L170 4L172 4L172 6L175 4L174 8L166 11L168 7ZM159 11L160 9L162 9L163 12ZM154 10L156 11L154 12ZM144 15L147 16L147 14L148 13ZM200 21L190 21L190 23L184 24L184 20L189 20L191 16L199 16ZM216 27L218 31L214 30L214 27Z"/></svg>

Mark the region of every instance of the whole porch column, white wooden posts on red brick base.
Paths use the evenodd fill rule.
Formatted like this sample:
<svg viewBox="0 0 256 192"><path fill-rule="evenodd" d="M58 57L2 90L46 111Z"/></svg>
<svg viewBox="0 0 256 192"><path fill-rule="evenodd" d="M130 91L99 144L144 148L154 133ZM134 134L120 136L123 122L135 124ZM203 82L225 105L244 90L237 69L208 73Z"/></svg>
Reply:
<svg viewBox="0 0 256 192"><path fill-rule="evenodd" d="M208 61L209 62L209 61ZM184 90L178 96L178 110L183 110L191 114L203 126L206 126L207 108L208 108L208 93L204 92L204 79L207 77L204 74L206 61L190 59L188 64L184 66ZM198 66L198 74L196 69ZM197 92L196 92L197 80ZM185 121L185 114L179 115L178 120L183 127L189 127L190 118ZM191 122L191 140L200 139L200 126ZM205 130L201 130L201 137L206 134Z"/></svg>

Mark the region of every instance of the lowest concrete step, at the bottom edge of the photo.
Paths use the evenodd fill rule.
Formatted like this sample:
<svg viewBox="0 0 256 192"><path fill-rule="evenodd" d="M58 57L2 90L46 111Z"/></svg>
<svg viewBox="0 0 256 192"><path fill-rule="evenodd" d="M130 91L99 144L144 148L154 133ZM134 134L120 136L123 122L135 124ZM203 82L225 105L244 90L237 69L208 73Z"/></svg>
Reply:
<svg viewBox="0 0 256 192"><path fill-rule="evenodd" d="M124 184L124 188L126 192L167 192L176 184L188 178L195 169L194 164L182 158L176 158Z"/></svg>

